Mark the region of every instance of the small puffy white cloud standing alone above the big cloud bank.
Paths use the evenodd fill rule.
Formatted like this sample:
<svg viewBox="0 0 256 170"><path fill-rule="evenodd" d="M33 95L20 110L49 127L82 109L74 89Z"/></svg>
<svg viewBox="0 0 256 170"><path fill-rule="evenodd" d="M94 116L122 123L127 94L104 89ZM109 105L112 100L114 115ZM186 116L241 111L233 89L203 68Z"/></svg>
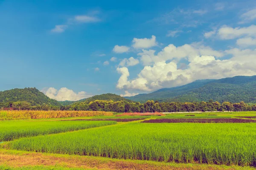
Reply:
<svg viewBox="0 0 256 170"><path fill-rule="evenodd" d="M151 39L148 38L134 38L132 40L134 48L150 48L157 45L156 36L152 35Z"/></svg>

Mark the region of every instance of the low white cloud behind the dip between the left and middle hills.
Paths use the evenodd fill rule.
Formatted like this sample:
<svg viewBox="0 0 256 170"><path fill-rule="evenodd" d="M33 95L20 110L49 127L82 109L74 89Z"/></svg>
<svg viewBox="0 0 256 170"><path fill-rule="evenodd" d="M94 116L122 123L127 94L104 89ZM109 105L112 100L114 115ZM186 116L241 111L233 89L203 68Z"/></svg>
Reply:
<svg viewBox="0 0 256 170"><path fill-rule="evenodd" d="M48 88L48 90L45 92L45 95L47 95L51 99L55 99L58 101L77 101L92 96L86 94L85 91L75 93L73 90L70 90L68 88L61 88L59 90L55 88Z"/></svg>

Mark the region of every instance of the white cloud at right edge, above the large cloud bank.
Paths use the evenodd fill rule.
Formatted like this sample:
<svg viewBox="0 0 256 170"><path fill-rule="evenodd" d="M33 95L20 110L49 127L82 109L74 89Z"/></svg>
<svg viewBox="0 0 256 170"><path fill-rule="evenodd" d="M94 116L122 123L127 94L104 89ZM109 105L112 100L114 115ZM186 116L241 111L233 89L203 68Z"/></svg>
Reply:
<svg viewBox="0 0 256 170"><path fill-rule="evenodd" d="M222 40L230 40L234 38L238 38L241 36L251 36L251 37L256 37L256 25L251 25L248 27L228 27L228 26L222 26L218 30L218 36Z"/></svg>

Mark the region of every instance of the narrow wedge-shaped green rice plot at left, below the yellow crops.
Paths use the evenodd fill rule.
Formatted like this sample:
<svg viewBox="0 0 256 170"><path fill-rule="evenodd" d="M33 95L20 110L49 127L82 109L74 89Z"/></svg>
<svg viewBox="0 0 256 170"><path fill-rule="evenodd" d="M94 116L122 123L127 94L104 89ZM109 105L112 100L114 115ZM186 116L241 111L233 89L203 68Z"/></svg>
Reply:
<svg viewBox="0 0 256 170"><path fill-rule="evenodd" d="M0 142L21 137L87 129L116 124L114 121L0 121Z"/></svg>

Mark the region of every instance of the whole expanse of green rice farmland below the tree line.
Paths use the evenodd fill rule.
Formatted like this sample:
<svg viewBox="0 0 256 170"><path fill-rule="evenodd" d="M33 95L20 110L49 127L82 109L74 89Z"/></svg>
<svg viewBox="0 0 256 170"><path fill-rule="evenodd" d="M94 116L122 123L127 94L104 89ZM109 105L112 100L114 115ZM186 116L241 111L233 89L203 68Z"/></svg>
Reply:
<svg viewBox="0 0 256 170"><path fill-rule="evenodd" d="M119 160L132 169L142 168L137 161L144 169L256 167L256 112L145 115L0 121L0 153L3 157L19 152L24 157L42 154L45 159L47 154L57 154L56 159L69 155L69 159ZM125 169L116 166L109 169Z"/></svg>

